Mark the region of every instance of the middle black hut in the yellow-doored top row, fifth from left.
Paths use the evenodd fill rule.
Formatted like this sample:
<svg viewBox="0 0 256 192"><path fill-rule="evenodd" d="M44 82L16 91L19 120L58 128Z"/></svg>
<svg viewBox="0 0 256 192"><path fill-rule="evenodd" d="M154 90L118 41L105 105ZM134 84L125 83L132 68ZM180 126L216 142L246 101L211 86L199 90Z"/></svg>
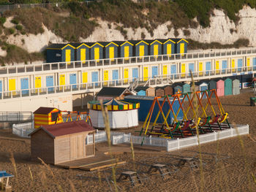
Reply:
<svg viewBox="0 0 256 192"><path fill-rule="evenodd" d="M133 56L133 44L129 41L126 42L118 42L118 41L114 41L114 43L116 43L116 45L118 46L118 57L119 58L125 58L125 60L128 60L129 57Z"/></svg>

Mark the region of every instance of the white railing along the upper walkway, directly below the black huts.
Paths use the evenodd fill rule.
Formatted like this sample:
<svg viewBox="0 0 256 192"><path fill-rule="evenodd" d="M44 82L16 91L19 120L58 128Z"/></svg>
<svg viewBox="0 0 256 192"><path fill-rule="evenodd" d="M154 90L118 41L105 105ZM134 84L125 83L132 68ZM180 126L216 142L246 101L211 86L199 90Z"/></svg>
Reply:
<svg viewBox="0 0 256 192"><path fill-rule="evenodd" d="M46 64L30 64L30 65L15 65L15 66L0 66L0 76L6 76L6 74L34 74L39 72L62 72L62 71L73 71L74 69L88 69L94 67L99 69L105 66L133 66L137 64L166 64L176 61L193 61L195 59L210 59L210 58L223 58L231 57L233 55L253 55L256 56L256 47L238 50L219 50L219 51L208 51L199 53L182 53L173 55L147 55L130 58L113 58L113 59L99 59L89 61L70 61L67 62L56 62Z"/></svg>

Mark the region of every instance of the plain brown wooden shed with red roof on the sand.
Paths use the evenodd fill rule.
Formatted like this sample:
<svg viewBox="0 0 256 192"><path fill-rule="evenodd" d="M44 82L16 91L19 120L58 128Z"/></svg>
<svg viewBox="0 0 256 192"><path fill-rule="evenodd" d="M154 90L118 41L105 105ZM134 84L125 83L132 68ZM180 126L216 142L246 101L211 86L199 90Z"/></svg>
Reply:
<svg viewBox="0 0 256 192"><path fill-rule="evenodd" d="M31 136L31 159L61 164L95 155L94 128L85 120L40 126Z"/></svg>

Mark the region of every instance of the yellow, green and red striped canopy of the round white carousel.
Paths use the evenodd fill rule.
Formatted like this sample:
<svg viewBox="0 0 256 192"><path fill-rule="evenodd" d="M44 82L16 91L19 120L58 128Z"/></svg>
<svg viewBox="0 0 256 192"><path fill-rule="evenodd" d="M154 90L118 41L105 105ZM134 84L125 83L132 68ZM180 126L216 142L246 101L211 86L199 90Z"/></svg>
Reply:
<svg viewBox="0 0 256 192"><path fill-rule="evenodd" d="M135 110L140 108L140 103L128 103L125 101L118 101L116 99L111 99L108 101L103 101L103 105L108 107L108 111L124 111L124 110ZM91 110L102 110L102 106L99 101L91 101L88 104Z"/></svg>

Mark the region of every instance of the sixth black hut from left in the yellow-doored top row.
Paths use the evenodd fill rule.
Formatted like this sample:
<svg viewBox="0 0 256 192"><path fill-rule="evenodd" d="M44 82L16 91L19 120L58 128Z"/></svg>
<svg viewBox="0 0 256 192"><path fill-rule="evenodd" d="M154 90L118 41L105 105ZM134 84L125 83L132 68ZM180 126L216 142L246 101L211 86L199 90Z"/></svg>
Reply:
<svg viewBox="0 0 256 192"><path fill-rule="evenodd" d="M135 57L143 58L143 56L148 55L148 43L143 40L130 40L133 46L133 55Z"/></svg>

